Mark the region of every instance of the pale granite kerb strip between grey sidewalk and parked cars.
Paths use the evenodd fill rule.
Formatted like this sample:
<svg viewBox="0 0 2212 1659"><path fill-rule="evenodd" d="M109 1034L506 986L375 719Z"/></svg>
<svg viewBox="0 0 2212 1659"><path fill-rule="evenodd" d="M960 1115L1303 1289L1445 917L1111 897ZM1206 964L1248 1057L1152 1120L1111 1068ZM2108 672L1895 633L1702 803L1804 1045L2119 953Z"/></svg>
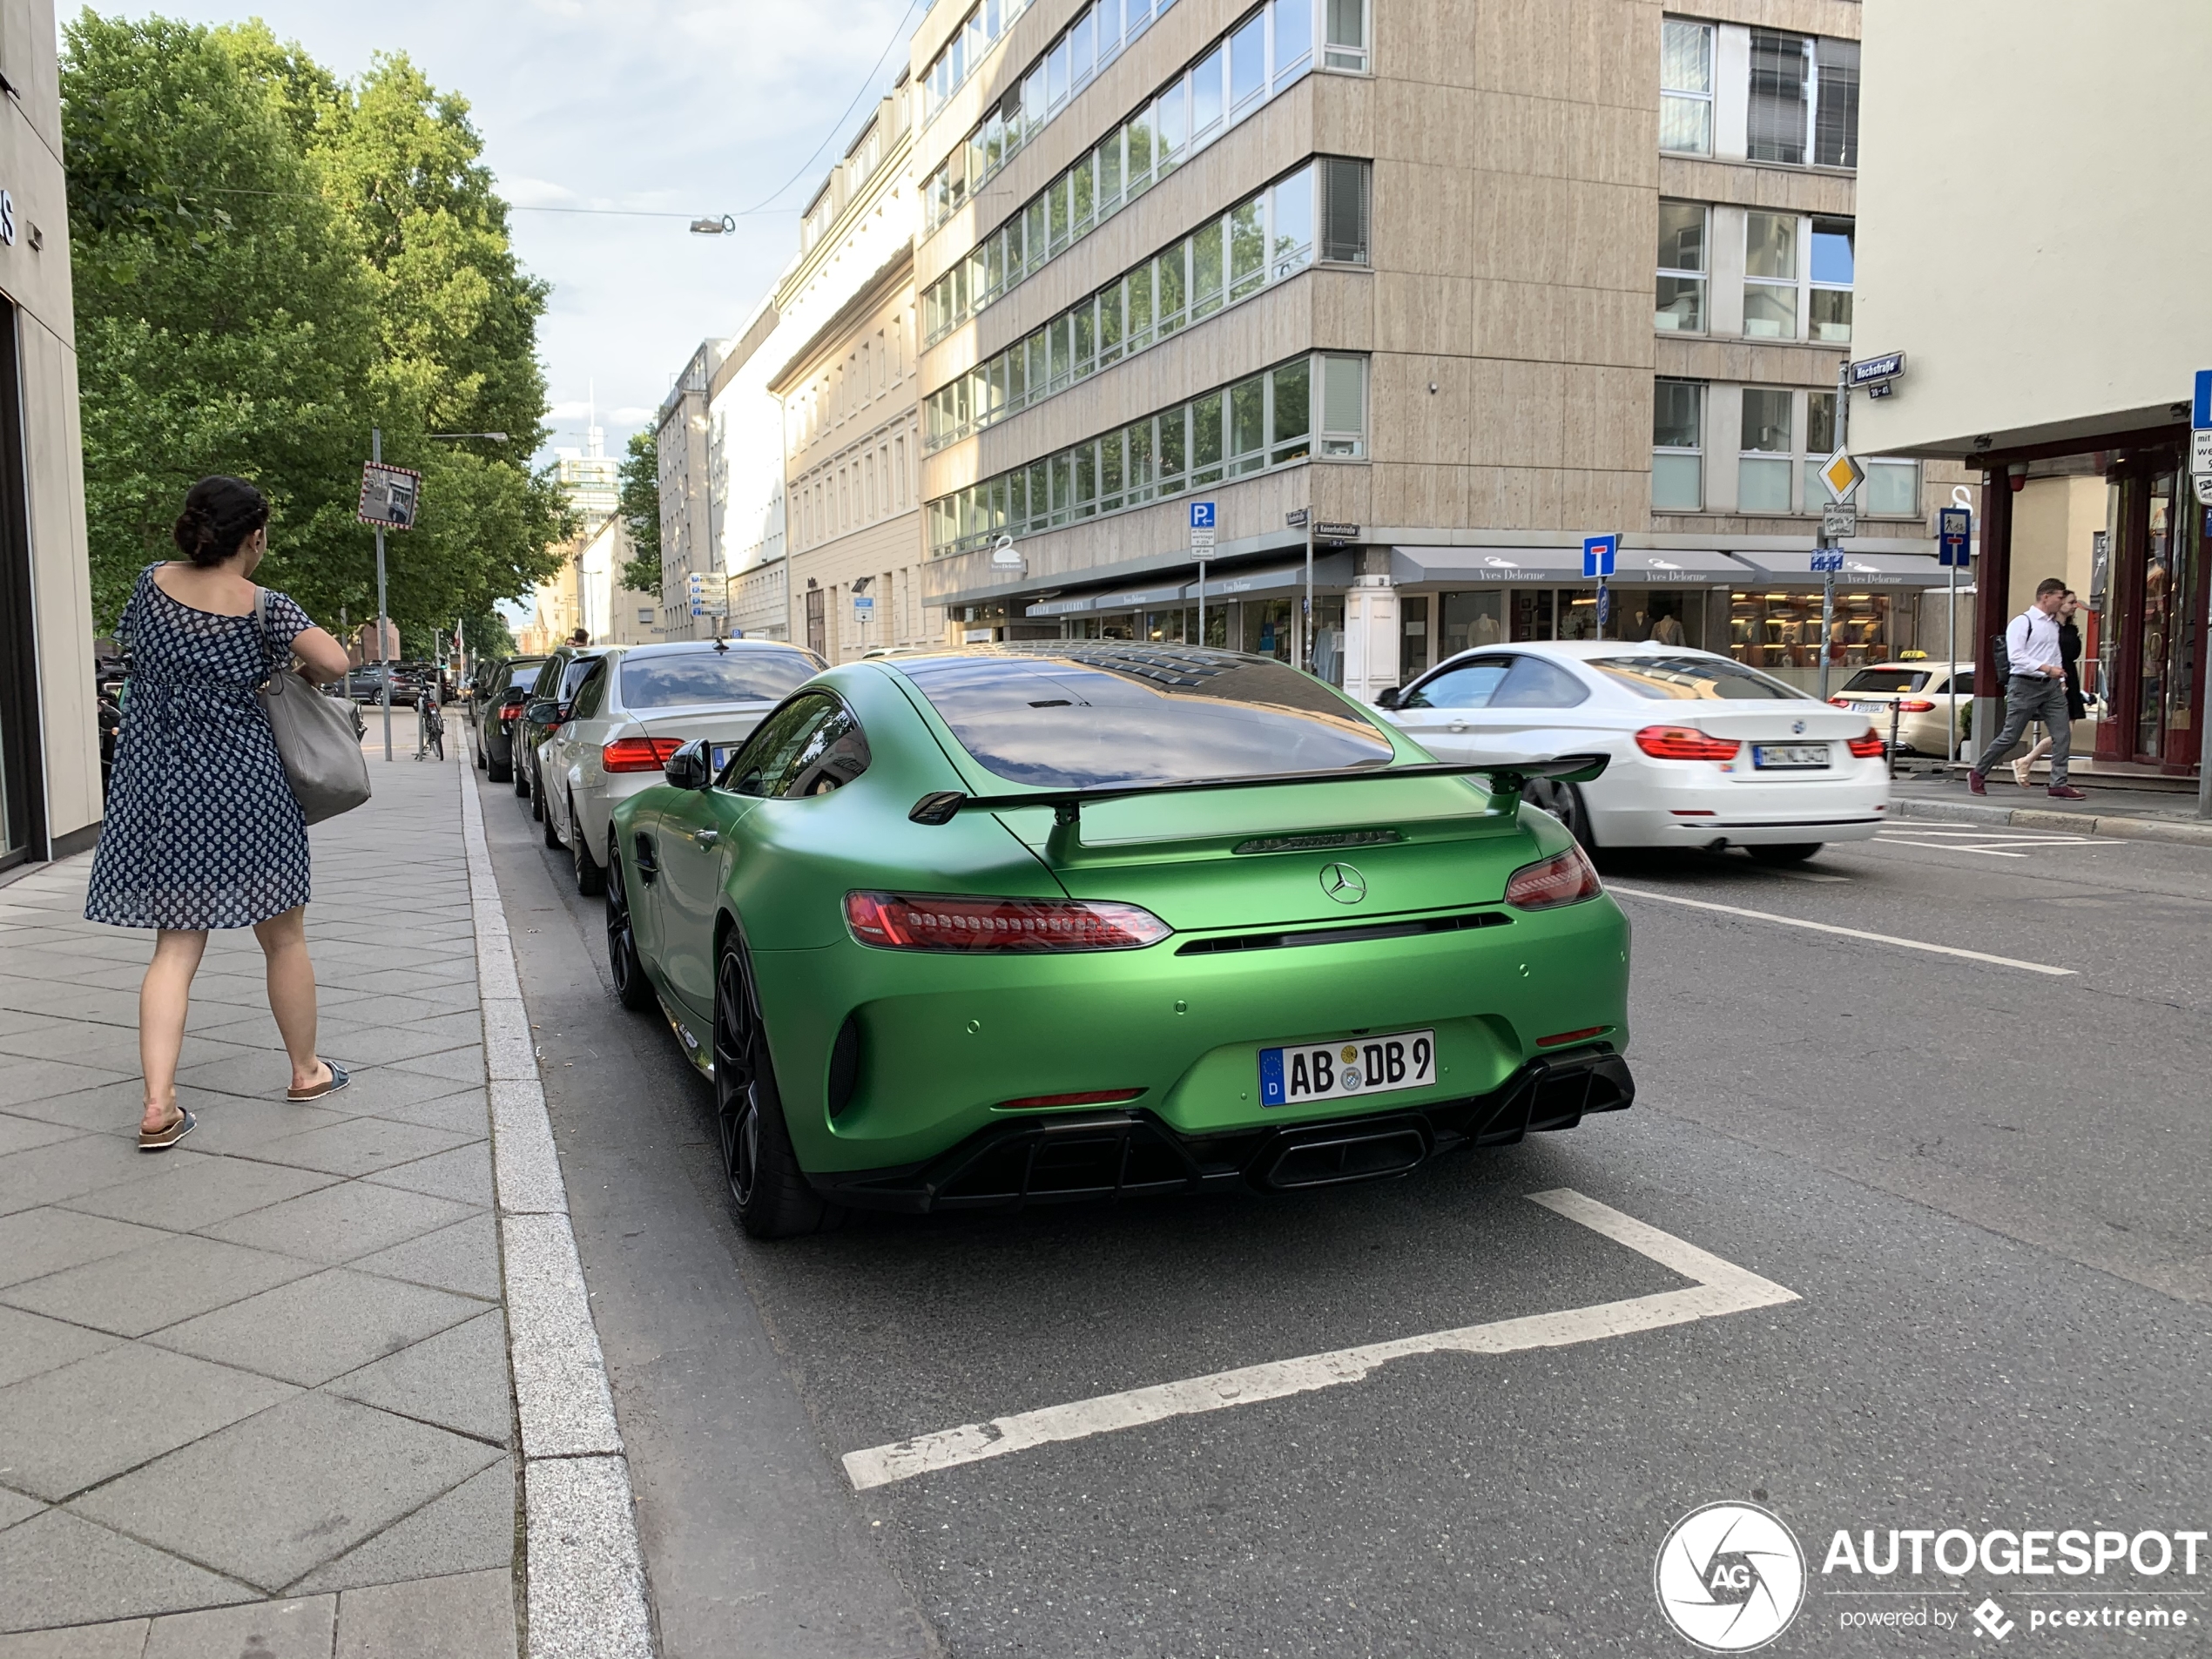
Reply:
<svg viewBox="0 0 2212 1659"><path fill-rule="evenodd" d="M467 757L462 770L507 1354L522 1427L526 1659L650 1659L653 1615L630 1467Z"/></svg>

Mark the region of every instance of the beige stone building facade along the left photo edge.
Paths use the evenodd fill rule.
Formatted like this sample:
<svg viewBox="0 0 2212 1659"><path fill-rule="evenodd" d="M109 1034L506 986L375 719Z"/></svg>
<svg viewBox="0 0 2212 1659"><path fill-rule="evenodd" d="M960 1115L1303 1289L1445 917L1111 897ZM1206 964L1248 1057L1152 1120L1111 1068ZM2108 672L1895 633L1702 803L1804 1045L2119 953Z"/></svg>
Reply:
<svg viewBox="0 0 2212 1659"><path fill-rule="evenodd" d="M0 869L91 847L102 783L53 4L0 4Z"/></svg>

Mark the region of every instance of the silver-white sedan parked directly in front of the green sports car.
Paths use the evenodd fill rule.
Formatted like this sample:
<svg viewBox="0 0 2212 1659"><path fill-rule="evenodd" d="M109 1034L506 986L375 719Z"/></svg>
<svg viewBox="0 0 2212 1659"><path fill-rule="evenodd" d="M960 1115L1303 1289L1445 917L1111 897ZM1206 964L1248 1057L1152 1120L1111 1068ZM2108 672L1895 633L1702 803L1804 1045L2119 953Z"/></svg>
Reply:
<svg viewBox="0 0 2212 1659"><path fill-rule="evenodd" d="M821 670L812 650L779 639L606 650L575 688L568 721L538 748L546 845L568 849L577 891L604 891L617 801L659 783L695 737L708 739L719 772L761 717Z"/></svg>

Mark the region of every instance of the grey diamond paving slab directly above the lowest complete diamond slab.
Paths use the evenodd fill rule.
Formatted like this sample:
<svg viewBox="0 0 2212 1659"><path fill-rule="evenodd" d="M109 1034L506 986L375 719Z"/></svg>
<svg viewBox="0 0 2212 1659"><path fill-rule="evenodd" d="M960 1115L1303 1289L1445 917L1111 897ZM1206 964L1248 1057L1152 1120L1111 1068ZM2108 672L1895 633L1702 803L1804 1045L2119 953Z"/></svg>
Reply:
<svg viewBox="0 0 2212 1659"><path fill-rule="evenodd" d="M316 1387L482 1312L484 1305L469 1296L334 1267L173 1325L159 1334L159 1345ZM502 1383L504 1371L500 1365ZM456 1378L453 1387L482 1387L482 1380Z"/></svg>

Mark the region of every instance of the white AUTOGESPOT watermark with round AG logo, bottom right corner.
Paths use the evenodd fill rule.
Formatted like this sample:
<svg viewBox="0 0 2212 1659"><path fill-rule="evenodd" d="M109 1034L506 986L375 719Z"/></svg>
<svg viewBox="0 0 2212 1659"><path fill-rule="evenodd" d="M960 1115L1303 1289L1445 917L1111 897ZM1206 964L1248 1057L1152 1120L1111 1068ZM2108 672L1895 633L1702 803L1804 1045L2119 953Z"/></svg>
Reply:
<svg viewBox="0 0 2212 1659"><path fill-rule="evenodd" d="M1652 1582L1668 1624L1708 1652L1767 1646L1812 1593L1834 1597L1838 1630L1871 1637L2075 1637L2077 1652L2095 1652L2093 1632L2185 1632L2194 1646L2212 1624L2199 1588L2208 1540L2212 1533L2188 1528L1838 1528L1809 1575L1778 1515L1723 1502L1674 1522Z"/></svg>

